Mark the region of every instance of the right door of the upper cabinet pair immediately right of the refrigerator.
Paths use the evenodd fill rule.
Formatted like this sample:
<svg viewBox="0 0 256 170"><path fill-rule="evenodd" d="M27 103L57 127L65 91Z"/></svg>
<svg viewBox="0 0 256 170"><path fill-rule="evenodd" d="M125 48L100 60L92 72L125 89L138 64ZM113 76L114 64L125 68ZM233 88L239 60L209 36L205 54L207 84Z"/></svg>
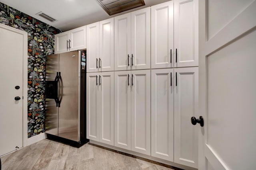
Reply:
<svg viewBox="0 0 256 170"><path fill-rule="evenodd" d="M100 71L114 71L114 18L100 21Z"/></svg>

